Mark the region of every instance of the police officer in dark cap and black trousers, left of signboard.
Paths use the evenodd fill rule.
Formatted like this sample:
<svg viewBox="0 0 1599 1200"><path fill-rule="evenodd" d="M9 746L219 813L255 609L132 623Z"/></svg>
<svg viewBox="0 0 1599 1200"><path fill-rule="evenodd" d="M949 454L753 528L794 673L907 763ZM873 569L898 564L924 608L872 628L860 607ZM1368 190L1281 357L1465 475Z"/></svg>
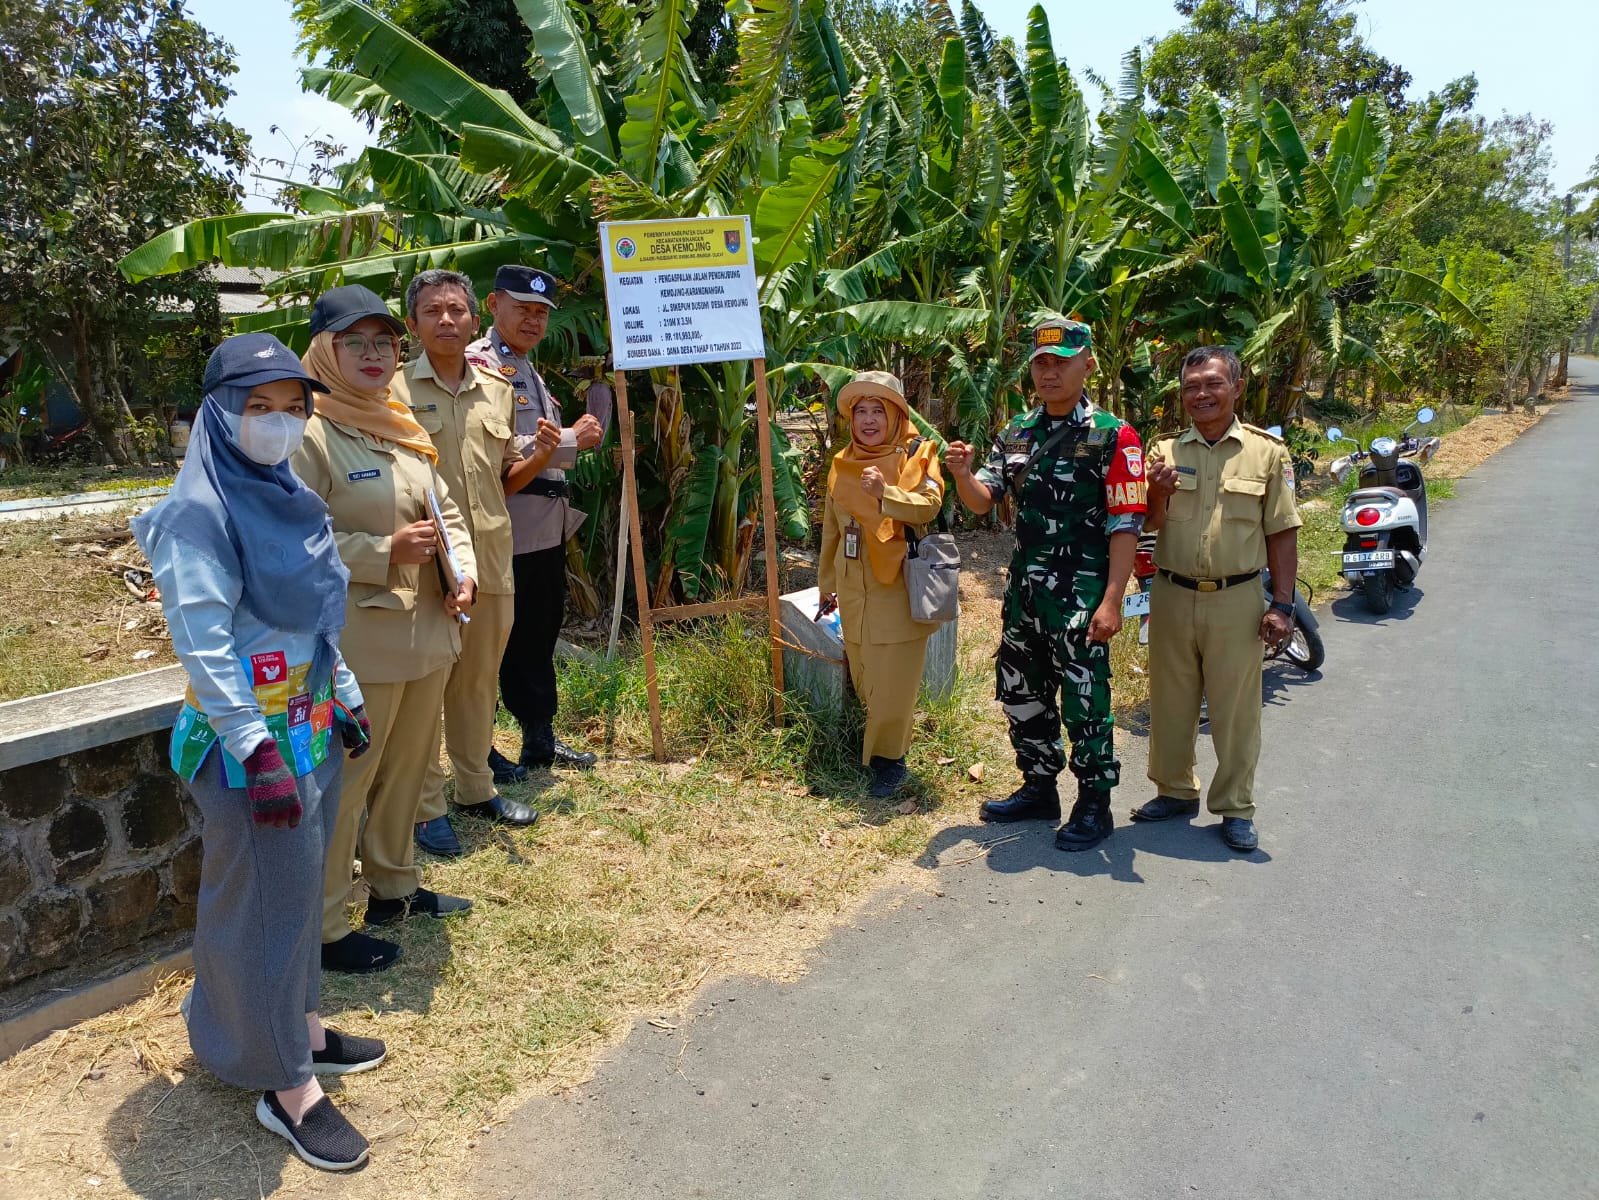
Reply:
<svg viewBox="0 0 1599 1200"><path fill-rule="evenodd" d="M548 427L560 438L547 466L507 498L516 614L499 680L500 699L521 725L523 741L520 763L491 754L489 763L499 782L524 778L528 768L563 765L587 770L595 765L592 754L574 750L555 736L555 642L566 616L566 539L585 517L568 502L566 469L577 464L580 450L600 445L604 424L601 414L590 411L563 429L561 406L528 360L550 326L555 288L556 280L548 272L500 267L488 299L494 326L467 347L473 363L512 386L518 438L534 438Z"/></svg>

